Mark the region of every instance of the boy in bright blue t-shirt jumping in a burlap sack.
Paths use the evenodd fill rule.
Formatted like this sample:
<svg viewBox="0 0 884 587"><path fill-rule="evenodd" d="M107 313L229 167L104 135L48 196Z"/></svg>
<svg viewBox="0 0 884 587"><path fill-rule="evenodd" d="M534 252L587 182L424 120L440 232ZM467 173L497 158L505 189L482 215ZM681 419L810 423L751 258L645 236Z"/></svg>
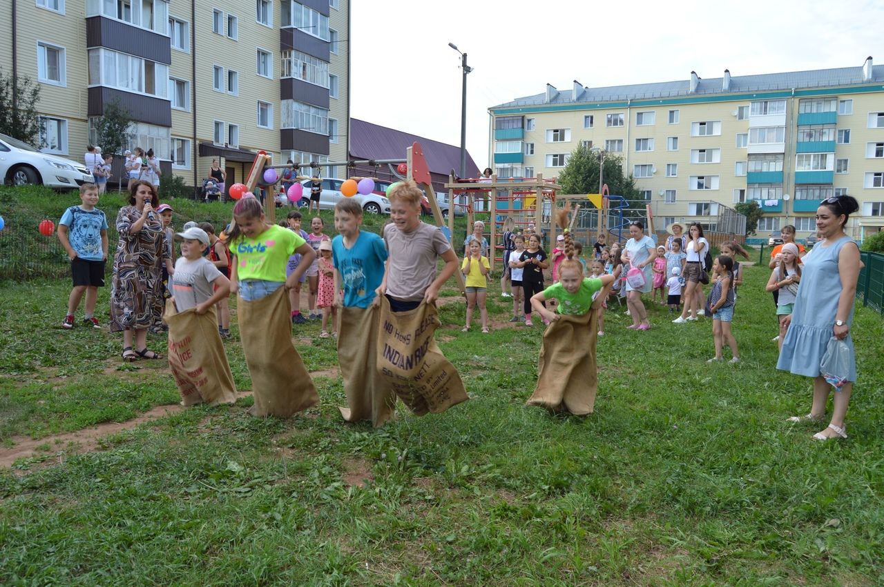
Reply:
<svg viewBox="0 0 884 587"><path fill-rule="evenodd" d="M360 230L362 207L352 198L334 207L331 241L335 300L339 307L338 361L344 380L347 408L339 408L347 422L370 420L375 428L392 418L396 394L377 372L377 288L384 281L387 259L384 239Z"/></svg>

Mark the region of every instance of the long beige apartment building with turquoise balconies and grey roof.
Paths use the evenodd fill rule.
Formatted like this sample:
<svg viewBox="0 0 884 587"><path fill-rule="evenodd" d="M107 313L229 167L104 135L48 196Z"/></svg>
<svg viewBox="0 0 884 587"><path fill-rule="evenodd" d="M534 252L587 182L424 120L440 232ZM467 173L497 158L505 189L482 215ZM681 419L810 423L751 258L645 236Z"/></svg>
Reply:
<svg viewBox="0 0 884 587"><path fill-rule="evenodd" d="M658 225L714 228L758 201L758 237L815 233L819 201L850 194L853 237L884 226L884 66L558 90L489 109L498 177L555 177L581 143L622 157Z"/></svg>

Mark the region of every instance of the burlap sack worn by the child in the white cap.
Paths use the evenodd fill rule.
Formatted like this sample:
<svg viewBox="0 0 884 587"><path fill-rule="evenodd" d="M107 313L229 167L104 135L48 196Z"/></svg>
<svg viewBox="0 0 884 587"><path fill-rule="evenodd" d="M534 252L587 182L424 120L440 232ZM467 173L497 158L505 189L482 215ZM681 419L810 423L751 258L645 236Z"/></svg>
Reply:
<svg viewBox="0 0 884 587"><path fill-rule="evenodd" d="M181 392L181 405L235 403L236 387L218 335L215 308L199 315L178 312L166 300L163 320L169 326L169 367Z"/></svg>

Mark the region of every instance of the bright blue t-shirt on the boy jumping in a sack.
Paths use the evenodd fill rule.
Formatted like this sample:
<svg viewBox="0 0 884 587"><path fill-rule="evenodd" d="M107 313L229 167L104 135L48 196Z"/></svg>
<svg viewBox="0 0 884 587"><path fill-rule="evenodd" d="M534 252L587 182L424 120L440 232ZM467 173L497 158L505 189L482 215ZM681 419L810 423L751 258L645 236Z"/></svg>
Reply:
<svg viewBox="0 0 884 587"><path fill-rule="evenodd" d="M373 232L360 230L354 245L347 249L344 237L331 240L331 259L344 284L344 305L367 308L375 299L375 290L384 281L387 258L384 239Z"/></svg>

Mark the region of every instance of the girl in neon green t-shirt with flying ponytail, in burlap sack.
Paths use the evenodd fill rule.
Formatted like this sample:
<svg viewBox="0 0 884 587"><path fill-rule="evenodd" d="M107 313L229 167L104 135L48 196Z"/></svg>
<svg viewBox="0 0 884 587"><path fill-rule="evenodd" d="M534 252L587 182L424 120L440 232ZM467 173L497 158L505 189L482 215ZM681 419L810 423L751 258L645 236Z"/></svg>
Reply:
<svg viewBox="0 0 884 587"><path fill-rule="evenodd" d="M537 388L527 403L583 416L592 413L598 389L596 310L620 271L584 278L583 265L576 259L574 238L568 230L568 211L560 210L556 219L565 232L565 260L559 267L559 282L531 297L531 307L549 320L550 326L540 347ZM552 297L559 300L555 313L544 304Z"/></svg>

